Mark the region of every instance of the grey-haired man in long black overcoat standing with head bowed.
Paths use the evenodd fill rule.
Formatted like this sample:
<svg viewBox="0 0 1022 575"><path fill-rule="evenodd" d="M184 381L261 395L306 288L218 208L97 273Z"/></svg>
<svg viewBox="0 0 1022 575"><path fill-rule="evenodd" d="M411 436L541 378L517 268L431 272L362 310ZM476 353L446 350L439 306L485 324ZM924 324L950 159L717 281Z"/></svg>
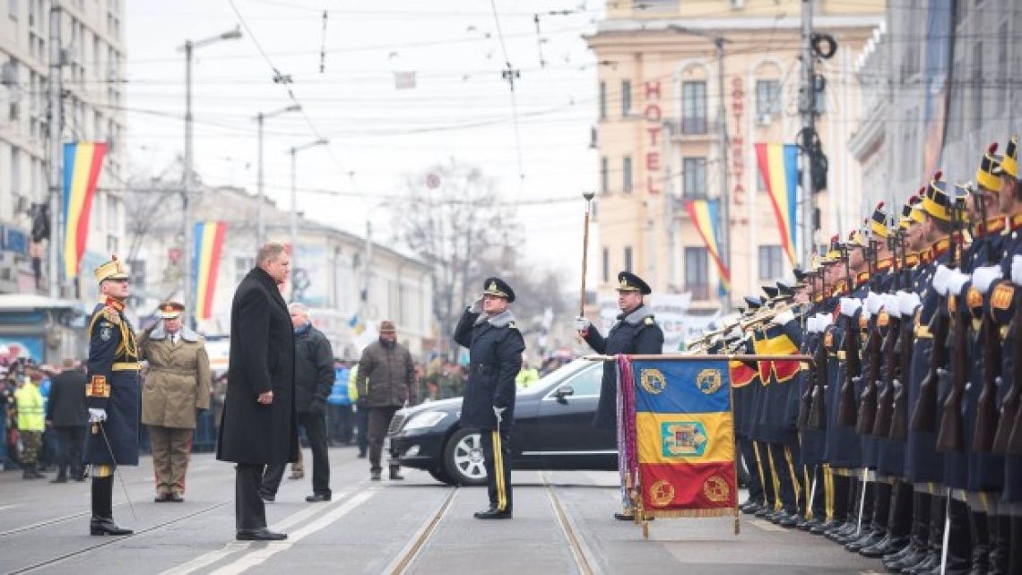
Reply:
<svg viewBox="0 0 1022 575"><path fill-rule="evenodd" d="M231 377L217 459L237 464L237 538L268 541L287 535L266 528L266 507L260 497L264 469L297 459L294 330L278 287L290 273L284 246L268 243L256 260L231 303Z"/></svg>

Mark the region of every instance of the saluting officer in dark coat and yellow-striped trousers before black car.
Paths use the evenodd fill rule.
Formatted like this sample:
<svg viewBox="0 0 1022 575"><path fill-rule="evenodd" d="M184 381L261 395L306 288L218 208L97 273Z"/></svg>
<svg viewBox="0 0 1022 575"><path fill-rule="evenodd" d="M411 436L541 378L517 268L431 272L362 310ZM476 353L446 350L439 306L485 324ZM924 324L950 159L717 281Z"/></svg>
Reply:
<svg viewBox="0 0 1022 575"><path fill-rule="evenodd" d="M461 423L478 428L486 467L490 509L476 519L511 519L511 429L514 425L514 379L525 350L508 304L514 290L500 278L483 282L482 295L465 309L454 340L468 348L469 375Z"/></svg>

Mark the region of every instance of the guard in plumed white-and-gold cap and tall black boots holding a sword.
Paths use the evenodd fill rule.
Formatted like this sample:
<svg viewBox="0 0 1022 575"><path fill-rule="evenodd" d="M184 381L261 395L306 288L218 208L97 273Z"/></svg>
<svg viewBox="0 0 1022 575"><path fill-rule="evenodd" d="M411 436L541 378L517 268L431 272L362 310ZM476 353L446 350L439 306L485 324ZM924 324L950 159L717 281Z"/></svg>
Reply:
<svg viewBox="0 0 1022 575"><path fill-rule="evenodd" d="M128 535L113 522L113 473L138 465L139 363L135 332L125 317L128 270L117 255L96 268L102 303L89 321L89 432L84 461L92 465L92 535Z"/></svg>

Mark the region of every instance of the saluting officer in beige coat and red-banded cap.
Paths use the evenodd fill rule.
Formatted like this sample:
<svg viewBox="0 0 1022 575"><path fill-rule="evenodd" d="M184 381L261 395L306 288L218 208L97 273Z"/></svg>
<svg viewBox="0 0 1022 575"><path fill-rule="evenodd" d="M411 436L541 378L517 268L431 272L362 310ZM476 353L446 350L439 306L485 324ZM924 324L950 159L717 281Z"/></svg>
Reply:
<svg viewBox="0 0 1022 575"><path fill-rule="evenodd" d="M156 502L184 500L185 473L195 417L210 409L210 360L202 336L182 326L184 305L159 305L161 321L143 334L139 355L149 363L142 387L142 423L148 426Z"/></svg>

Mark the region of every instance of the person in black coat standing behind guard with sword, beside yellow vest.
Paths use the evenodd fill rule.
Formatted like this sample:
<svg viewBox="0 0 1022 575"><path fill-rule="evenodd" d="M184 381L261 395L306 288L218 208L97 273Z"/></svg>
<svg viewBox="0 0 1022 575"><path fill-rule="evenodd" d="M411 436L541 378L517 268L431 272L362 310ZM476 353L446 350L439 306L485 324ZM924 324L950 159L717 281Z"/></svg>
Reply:
<svg viewBox="0 0 1022 575"><path fill-rule="evenodd" d="M85 444L85 424L89 421L85 384L85 372L77 368L72 358L64 360L63 371L50 380L46 427L56 432L60 446L57 476L50 483L66 483L68 468L75 481L85 481L82 446Z"/></svg>

